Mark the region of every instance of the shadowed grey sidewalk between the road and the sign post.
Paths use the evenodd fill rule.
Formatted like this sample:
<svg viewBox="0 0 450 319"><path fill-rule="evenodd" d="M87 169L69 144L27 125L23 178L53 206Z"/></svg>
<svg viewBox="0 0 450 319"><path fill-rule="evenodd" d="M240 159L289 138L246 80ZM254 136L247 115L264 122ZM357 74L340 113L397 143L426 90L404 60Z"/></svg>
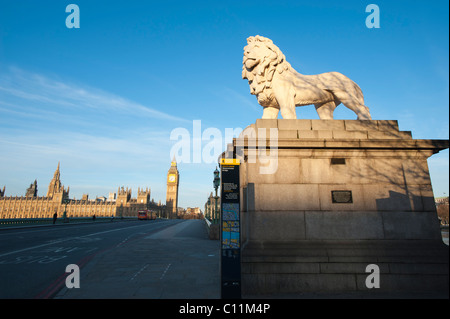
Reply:
<svg viewBox="0 0 450 319"><path fill-rule="evenodd" d="M219 241L188 220L96 255L56 299L218 299Z"/></svg>

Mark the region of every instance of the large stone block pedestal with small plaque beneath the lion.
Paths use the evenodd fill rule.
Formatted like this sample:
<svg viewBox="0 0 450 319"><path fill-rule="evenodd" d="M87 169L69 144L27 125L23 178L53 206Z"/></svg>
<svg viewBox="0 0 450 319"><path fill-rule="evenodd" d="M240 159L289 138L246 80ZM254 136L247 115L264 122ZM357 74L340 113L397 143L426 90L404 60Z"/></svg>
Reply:
<svg viewBox="0 0 450 319"><path fill-rule="evenodd" d="M260 119L241 137L224 155L242 162L244 297L448 296L448 246L427 165L447 140L358 120ZM379 266L379 289L365 285L368 264Z"/></svg>

